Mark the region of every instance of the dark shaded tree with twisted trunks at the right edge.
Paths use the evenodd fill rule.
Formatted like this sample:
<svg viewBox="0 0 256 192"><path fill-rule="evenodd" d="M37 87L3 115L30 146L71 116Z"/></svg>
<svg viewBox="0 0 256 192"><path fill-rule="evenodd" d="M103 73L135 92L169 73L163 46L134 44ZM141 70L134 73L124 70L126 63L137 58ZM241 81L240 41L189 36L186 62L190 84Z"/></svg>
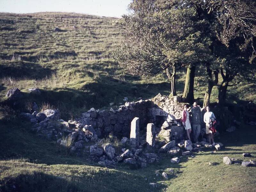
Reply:
<svg viewBox="0 0 256 192"><path fill-rule="evenodd" d="M219 63L214 81L211 65L206 64L208 89L204 105L209 103L212 85L218 82L218 70L223 79L218 86L219 104L222 105L228 86L234 85L231 81L255 79L256 3L252 0L191 0L190 3L199 19L211 24L211 50Z"/></svg>

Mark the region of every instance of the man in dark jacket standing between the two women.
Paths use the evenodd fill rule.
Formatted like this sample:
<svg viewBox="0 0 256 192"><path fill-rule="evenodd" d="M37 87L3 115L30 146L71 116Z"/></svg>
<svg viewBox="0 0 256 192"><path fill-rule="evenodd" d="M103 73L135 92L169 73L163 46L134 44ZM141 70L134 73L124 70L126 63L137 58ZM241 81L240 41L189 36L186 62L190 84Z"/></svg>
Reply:
<svg viewBox="0 0 256 192"><path fill-rule="evenodd" d="M198 137L201 133L201 109L198 107L197 103L194 102L194 107L191 109L191 125L192 125L192 131L193 131L193 140L194 142L198 141Z"/></svg>

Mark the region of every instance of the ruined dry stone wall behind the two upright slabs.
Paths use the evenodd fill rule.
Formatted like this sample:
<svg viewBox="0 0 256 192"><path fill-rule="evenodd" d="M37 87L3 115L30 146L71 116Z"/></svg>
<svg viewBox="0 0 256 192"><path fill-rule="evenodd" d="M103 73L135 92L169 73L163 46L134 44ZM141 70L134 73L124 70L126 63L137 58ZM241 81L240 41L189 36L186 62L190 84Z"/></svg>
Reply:
<svg viewBox="0 0 256 192"><path fill-rule="evenodd" d="M140 118L140 129L153 123L159 128L167 120L174 121L181 117L183 103L179 103L180 97L162 96L160 93L152 100L140 100L137 102L126 102L117 110L95 110L91 108L82 114L76 122L92 125L101 137L113 132L120 137L129 137L131 122L134 117ZM72 123L69 121L69 123Z"/></svg>

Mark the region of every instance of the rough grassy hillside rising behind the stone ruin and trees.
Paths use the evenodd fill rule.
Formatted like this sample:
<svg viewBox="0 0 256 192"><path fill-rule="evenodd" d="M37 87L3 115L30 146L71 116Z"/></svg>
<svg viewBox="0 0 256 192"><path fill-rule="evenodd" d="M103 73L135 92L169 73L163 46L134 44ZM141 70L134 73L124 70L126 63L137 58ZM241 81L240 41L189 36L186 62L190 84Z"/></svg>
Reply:
<svg viewBox="0 0 256 192"><path fill-rule="evenodd" d="M0 13L0 99L9 88L28 92L43 90L40 97L24 98L59 108L62 118L78 116L88 108L102 108L124 97L148 99L158 92L169 94L165 74L148 80L124 74L111 59L122 35L115 18L76 13ZM75 26L75 27L74 27ZM54 32L58 27L61 32ZM178 73L177 89L182 93L185 71ZM220 79L221 80L221 79ZM230 102L256 100L254 84L230 88ZM204 98L204 82L195 81L195 98ZM237 94L238 92L242 94ZM213 88L212 102L218 91Z"/></svg>

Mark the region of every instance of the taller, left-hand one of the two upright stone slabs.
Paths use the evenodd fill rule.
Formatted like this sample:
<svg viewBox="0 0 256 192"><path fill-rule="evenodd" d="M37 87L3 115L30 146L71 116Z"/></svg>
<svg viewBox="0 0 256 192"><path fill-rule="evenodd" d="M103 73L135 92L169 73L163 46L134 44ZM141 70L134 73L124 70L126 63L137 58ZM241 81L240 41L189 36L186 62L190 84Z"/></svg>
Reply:
<svg viewBox="0 0 256 192"><path fill-rule="evenodd" d="M140 145L140 119L135 117L131 123L130 145L139 147Z"/></svg>

